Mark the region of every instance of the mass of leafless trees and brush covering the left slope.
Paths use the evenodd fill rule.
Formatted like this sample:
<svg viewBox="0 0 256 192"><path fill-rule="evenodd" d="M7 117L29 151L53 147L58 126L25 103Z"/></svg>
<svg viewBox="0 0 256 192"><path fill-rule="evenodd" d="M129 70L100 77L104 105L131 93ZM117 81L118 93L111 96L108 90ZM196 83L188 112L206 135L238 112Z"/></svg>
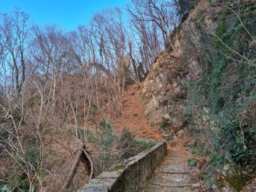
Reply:
<svg viewBox="0 0 256 192"><path fill-rule="evenodd" d="M87 156L89 126L97 127L102 116L123 115L125 83L139 83L149 72L178 22L174 9L172 1L132 0L129 23L114 7L94 13L87 25L71 32L31 24L19 9L1 13L0 157L6 163L3 181L11 189L43 190L45 172L56 186L65 182L70 188ZM51 146L60 140L64 151ZM51 167L50 157L71 171ZM58 177L63 172L68 178Z"/></svg>

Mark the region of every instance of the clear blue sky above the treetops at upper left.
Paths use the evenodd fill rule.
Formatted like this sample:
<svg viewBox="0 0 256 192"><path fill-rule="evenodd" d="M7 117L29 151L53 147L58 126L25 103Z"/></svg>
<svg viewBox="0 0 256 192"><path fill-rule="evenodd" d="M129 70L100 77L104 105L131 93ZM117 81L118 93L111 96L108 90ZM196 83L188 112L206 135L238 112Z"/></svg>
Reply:
<svg viewBox="0 0 256 192"><path fill-rule="evenodd" d="M30 15L37 24L56 23L66 30L90 19L91 13L111 6L125 6L129 0L0 0L0 11L14 7Z"/></svg>

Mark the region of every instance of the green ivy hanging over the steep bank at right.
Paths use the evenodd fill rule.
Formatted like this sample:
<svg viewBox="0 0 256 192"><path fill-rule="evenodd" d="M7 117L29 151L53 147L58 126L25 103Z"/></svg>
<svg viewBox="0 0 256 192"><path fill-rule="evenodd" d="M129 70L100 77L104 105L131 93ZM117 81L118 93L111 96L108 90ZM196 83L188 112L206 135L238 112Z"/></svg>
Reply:
<svg viewBox="0 0 256 192"><path fill-rule="evenodd" d="M249 13L253 4L233 0L226 2L234 3L232 5L240 13L241 22L255 37L256 19ZM230 154L251 172L256 170L256 67L243 63L245 59L225 46L255 63L252 39L241 22L230 9L222 11L213 36L211 66L205 68L201 79L188 83L183 120L188 122L189 130L196 135L205 134L208 139L211 147L207 154L212 169L221 168L224 157ZM209 121L214 127L212 131L198 133L196 115L202 106L209 108Z"/></svg>

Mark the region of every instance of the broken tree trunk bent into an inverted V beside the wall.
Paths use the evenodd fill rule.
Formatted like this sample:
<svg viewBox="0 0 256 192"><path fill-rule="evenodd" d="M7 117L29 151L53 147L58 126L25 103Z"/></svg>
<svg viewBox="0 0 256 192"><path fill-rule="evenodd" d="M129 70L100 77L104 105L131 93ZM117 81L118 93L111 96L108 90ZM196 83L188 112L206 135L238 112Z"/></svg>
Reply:
<svg viewBox="0 0 256 192"><path fill-rule="evenodd" d="M75 159L73 162L73 165L69 171L69 174L66 178L66 181L63 185L63 189L68 189L69 185L71 184L74 174L76 172L76 169L78 167L79 161L83 160L83 163L85 164L85 169L87 170L87 174L89 176L89 180L92 178L93 176L93 164L92 164L92 160L90 159L88 153L85 150L85 144L82 141L78 142L78 149L76 151L76 155L75 155Z"/></svg>

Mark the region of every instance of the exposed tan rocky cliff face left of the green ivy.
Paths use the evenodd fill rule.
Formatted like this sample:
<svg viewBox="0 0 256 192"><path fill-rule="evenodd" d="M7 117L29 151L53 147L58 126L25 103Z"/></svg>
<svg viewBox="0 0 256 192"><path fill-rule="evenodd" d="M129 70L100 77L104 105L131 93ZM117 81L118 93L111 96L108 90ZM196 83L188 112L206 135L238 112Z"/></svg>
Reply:
<svg viewBox="0 0 256 192"><path fill-rule="evenodd" d="M197 5L186 20L173 32L171 46L152 63L141 91L146 105L145 116L151 125L160 125L167 139L182 133L186 124L182 108L186 99L187 83L201 77L205 65L201 51L205 48L201 33L213 31L217 25L216 11L208 4ZM203 24L204 31L199 24Z"/></svg>

